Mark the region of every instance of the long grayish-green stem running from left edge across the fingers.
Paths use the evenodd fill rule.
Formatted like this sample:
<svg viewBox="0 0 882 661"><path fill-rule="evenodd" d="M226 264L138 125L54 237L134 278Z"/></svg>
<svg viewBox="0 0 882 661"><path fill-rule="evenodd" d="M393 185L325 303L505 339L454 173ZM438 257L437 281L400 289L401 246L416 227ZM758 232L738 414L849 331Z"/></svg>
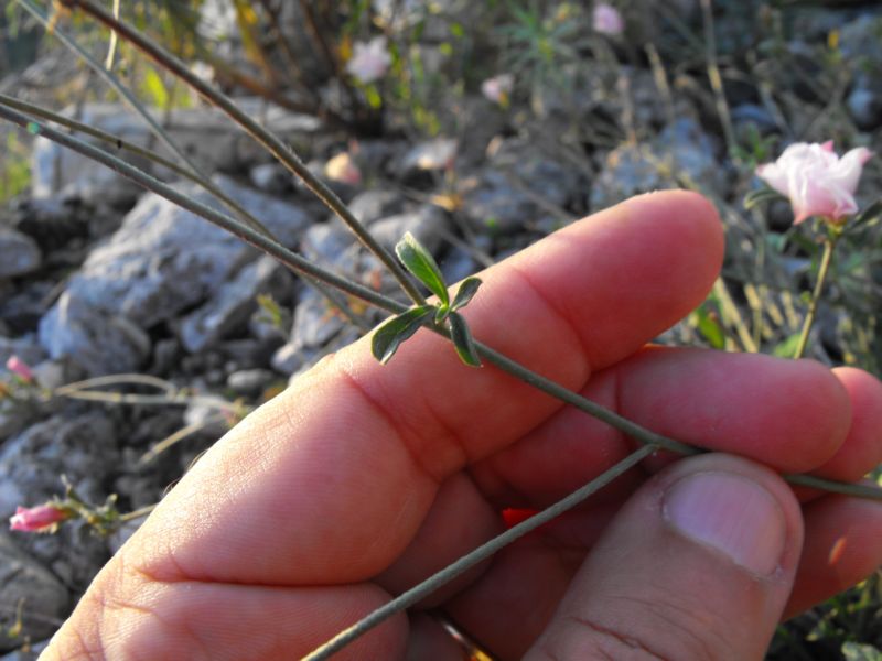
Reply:
<svg viewBox="0 0 882 661"><path fill-rule="evenodd" d="M407 305L395 301L394 299L389 299L388 296L384 296L374 290L363 286L361 284L351 282L345 278L341 278L336 273L332 273L321 267L318 267L310 261L305 260L304 258L300 257L299 254L288 250L283 246L278 245L277 242L271 241L267 237L255 232L249 227L244 226L243 224L238 223L234 218L213 209L204 204L201 204L191 197L180 193L175 188L163 184L155 177L150 176L149 174L138 170L133 165L121 161L120 159L109 154L87 142L78 140L72 136L67 136L66 133L62 133L43 124L36 123L33 119L28 116L21 115L20 112L12 110L10 108L3 108L0 106L0 118L7 119L13 123L21 126L22 128L31 127L31 130L36 130L40 134L49 138L67 147L74 151L77 151L99 163L107 165L108 167L119 172L123 176L131 178L133 182L138 183L139 185L152 191L153 193L165 197L170 202L173 202L180 205L182 208L185 208L197 216L201 216L226 229L227 231L234 234L235 236L239 237L244 241L263 250L267 254L276 258L282 264L291 269L292 271L300 273L300 274L308 274L311 278L315 278L316 280L321 280L325 284L330 286L334 286L347 294L351 294L362 301L375 305L381 310L390 312L392 314L400 314L408 310ZM439 333L445 337L450 337L448 332L442 328L441 326L430 325L427 324L427 327ZM662 434L657 434L650 430L647 430L621 415L617 413L610 411L601 407L600 404L588 400L580 394L572 392L538 375L526 367L519 365L518 362L512 360L510 358L495 351L494 349L487 347L482 343L475 343L475 347L477 348L478 354L486 359L488 362L495 365L499 369L510 373L512 376L521 379L523 381L542 390L544 392L558 398L559 400L563 401L564 403L572 404L578 409L598 418L599 420L605 422L610 426L621 431L624 434L627 434L635 441L659 446L665 449L669 449L677 454L699 454L704 452L702 449L692 447L679 441L675 441L674 438L668 438ZM874 489L871 495L865 492L865 488L854 489L853 491L849 491L851 487L856 485L847 485L842 483L836 483L832 480L824 480L820 478L813 478L815 484L813 486L821 489L827 489L830 491L837 492L849 492L853 496L862 497L862 498L873 498L882 500L882 489Z"/></svg>

